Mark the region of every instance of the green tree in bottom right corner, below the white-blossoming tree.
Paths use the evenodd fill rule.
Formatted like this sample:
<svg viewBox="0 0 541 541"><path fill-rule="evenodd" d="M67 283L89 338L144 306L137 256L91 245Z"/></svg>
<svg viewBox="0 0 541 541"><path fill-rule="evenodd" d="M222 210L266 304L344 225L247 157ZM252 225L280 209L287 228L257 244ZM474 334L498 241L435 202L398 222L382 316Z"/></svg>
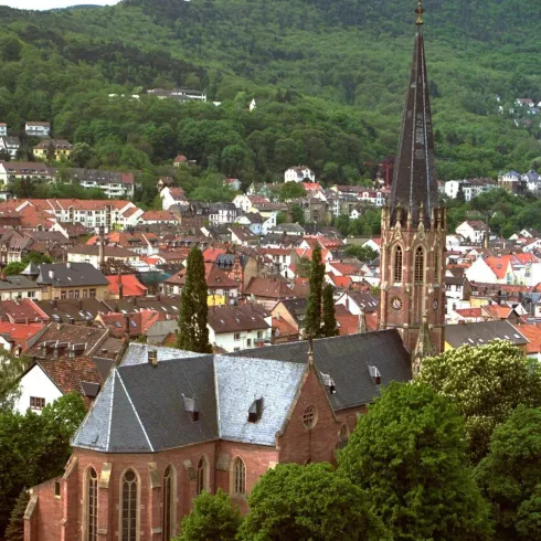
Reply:
<svg viewBox="0 0 541 541"><path fill-rule="evenodd" d="M541 539L541 410L519 405L490 438L475 470L492 503L497 539Z"/></svg>

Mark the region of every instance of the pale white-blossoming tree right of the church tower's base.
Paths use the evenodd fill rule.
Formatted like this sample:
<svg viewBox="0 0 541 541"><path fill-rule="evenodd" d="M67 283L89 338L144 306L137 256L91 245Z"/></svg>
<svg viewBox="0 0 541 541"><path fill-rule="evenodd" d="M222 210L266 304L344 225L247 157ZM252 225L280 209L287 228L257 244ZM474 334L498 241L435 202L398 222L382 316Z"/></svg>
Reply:
<svg viewBox="0 0 541 541"><path fill-rule="evenodd" d="M481 347L463 346L424 359L416 381L456 405L465 420L475 463L487 454L496 426L518 404L541 404L541 365L503 340Z"/></svg>

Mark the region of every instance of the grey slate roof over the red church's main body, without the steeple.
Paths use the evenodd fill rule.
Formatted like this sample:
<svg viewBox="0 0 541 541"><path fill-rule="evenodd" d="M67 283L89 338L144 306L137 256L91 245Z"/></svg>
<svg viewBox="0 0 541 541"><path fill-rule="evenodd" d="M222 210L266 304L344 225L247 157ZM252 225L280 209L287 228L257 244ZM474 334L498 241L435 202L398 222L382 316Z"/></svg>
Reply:
<svg viewBox="0 0 541 541"><path fill-rule="evenodd" d="M156 367L147 360L149 349L158 352ZM226 356L131 343L72 445L106 453L155 453L218 438L272 446L301 385L307 353L308 342ZM336 393L329 394L335 410L380 394L369 364L378 368L383 385L412 376L396 330L315 340L314 359L321 380L335 380ZM261 397L263 415L248 423L248 410ZM187 404L195 404L199 421Z"/></svg>

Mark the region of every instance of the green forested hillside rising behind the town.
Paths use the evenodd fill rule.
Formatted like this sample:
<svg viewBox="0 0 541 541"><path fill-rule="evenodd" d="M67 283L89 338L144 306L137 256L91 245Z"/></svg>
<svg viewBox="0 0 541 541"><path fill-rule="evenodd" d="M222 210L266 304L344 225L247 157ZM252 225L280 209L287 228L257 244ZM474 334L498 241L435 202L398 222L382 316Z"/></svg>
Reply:
<svg viewBox="0 0 541 541"><path fill-rule="evenodd" d="M439 177L527 169L541 156L539 123L516 127L495 96L541 100L541 3L424 3ZM56 135L93 146L98 167L149 170L181 150L244 182L299 161L354 182L363 161L395 151L414 10L414 0L1 8L0 119L52 120ZM174 86L222 105L107 98Z"/></svg>

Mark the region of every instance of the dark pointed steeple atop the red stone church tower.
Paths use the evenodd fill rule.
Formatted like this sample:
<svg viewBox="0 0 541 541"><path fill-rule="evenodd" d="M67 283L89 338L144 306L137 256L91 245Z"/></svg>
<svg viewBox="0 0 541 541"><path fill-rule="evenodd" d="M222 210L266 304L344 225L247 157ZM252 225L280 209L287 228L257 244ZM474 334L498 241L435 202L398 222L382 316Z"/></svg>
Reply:
<svg viewBox="0 0 541 541"><path fill-rule="evenodd" d="M428 76L423 40L423 6L417 2L417 33L413 50L413 63L407 88L406 105L402 118L402 131L394 166L391 191L391 223L397 220L396 210L412 212L413 224L420 222L420 208L424 208L425 225L429 224L433 209L439 206L434 165L434 135L428 93Z"/></svg>

